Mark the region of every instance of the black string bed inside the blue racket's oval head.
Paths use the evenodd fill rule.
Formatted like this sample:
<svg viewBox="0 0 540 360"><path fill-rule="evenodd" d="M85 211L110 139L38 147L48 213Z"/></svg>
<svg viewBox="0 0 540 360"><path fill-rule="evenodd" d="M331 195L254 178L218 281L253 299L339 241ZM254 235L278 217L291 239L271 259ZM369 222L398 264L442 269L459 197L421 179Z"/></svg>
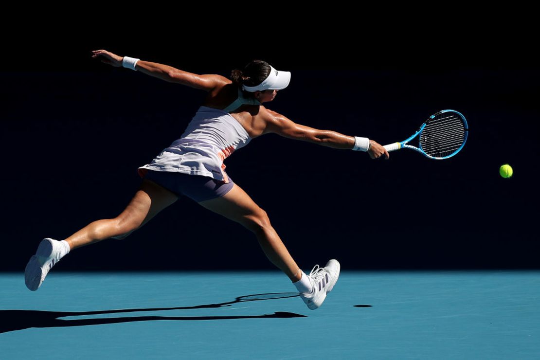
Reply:
<svg viewBox="0 0 540 360"><path fill-rule="evenodd" d="M420 134L420 146L430 156L447 157L459 150L465 140L465 131L460 116L444 112L427 121Z"/></svg>

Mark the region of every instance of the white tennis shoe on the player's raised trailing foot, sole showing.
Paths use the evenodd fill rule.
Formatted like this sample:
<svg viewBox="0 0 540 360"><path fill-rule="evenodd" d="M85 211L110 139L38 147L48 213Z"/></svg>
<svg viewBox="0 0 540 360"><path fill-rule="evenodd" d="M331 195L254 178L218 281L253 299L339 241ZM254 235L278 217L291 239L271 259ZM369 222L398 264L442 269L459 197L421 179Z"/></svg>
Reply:
<svg viewBox="0 0 540 360"><path fill-rule="evenodd" d="M30 258L24 270L24 282L32 291L39 289L49 270L60 260L62 244L47 237L37 247L36 255Z"/></svg>

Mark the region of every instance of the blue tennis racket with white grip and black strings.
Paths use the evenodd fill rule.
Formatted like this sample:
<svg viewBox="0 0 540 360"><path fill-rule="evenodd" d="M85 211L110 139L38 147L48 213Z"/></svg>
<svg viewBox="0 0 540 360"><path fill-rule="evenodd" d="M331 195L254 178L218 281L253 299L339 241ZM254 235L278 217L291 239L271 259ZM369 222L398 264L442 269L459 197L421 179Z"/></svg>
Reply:
<svg viewBox="0 0 540 360"><path fill-rule="evenodd" d="M435 160L453 157L465 145L469 128L463 114L455 110L442 110L431 115L422 126L407 140L384 145L390 152L407 148ZM408 142L418 137L418 145Z"/></svg>

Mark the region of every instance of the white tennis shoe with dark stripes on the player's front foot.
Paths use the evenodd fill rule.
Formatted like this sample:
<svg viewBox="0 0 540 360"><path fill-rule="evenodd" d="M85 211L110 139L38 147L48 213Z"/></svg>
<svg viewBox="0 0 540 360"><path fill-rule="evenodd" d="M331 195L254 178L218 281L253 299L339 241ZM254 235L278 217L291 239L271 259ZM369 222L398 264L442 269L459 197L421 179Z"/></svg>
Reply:
<svg viewBox="0 0 540 360"><path fill-rule="evenodd" d="M313 290L311 294L300 293L300 297L309 309L315 310L322 305L322 302L326 299L326 294L332 291L336 281L338 281L339 271L340 264L338 260L334 259L328 261L323 268L315 265L311 270L308 279L313 286Z"/></svg>

